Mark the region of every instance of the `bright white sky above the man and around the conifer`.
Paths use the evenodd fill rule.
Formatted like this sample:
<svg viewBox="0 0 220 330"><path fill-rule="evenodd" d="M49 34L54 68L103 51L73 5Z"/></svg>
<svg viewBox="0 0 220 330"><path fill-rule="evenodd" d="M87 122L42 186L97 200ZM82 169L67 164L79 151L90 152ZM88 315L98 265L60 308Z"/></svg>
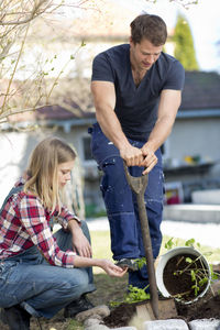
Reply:
<svg viewBox="0 0 220 330"><path fill-rule="evenodd" d="M114 1L114 0L112 0ZM201 70L218 70L220 73L220 1L198 0L198 4L189 4L185 9L180 2L187 0L116 0L133 8L136 12L146 11L161 15L167 26L174 28L177 13L185 15L189 23L197 61ZM191 1L190 1L191 2Z"/></svg>

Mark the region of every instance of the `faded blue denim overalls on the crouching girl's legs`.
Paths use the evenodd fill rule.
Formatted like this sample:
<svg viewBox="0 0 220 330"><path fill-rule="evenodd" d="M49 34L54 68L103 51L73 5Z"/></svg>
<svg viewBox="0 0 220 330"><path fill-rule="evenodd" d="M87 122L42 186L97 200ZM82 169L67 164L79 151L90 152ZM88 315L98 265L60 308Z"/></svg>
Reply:
<svg viewBox="0 0 220 330"><path fill-rule="evenodd" d="M81 229L90 240L88 227ZM61 250L72 250L72 234L59 229L54 237ZM92 270L50 265L36 246L0 262L0 307L20 304L35 317L52 318L82 294L94 292Z"/></svg>

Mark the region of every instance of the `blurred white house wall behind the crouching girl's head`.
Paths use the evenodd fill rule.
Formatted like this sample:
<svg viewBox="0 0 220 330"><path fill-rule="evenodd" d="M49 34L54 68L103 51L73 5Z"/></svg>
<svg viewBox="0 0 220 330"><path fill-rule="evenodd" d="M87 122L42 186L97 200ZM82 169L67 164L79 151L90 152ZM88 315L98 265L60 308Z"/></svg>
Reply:
<svg viewBox="0 0 220 330"><path fill-rule="evenodd" d="M77 152L79 167L77 178L82 180L86 204L102 205L98 169L95 161L84 162L82 136L88 136L87 127L74 127L70 132L63 129L38 129L33 132L0 132L0 206L7 194L28 166L28 160L35 145L47 135L56 135L67 141ZM92 180L84 180L85 174Z"/></svg>

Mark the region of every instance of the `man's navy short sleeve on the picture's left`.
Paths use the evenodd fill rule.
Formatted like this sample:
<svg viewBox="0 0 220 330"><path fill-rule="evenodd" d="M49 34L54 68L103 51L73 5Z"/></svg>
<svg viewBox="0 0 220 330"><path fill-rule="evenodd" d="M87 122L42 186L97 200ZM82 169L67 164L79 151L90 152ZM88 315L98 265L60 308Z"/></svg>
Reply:
<svg viewBox="0 0 220 330"><path fill-rule="evenodd" d="M114 82L114 74L112 66L107 55L103 53L97 55L94 59L91 80Z"/></svg>

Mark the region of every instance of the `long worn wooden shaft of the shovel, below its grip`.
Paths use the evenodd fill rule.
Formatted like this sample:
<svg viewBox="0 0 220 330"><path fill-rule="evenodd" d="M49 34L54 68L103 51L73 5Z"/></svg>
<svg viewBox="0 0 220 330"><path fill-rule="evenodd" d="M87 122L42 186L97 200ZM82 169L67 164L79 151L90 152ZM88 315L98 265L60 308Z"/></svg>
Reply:
<svg viewBox="0 0 220 330"><path fill-rule="evenodd" d="M154 258L151 244L148 220L146 217L146 209L144 202L144 196L142 194L136 195L138 206L139 206L139 217L141 222L141 230L143 237L144 252L146 256L146 267L148 272L148 284L150 284L150 295L152 310L156 319L158 319L158 293L156 286L156 276L154 271Z"/></svg>

